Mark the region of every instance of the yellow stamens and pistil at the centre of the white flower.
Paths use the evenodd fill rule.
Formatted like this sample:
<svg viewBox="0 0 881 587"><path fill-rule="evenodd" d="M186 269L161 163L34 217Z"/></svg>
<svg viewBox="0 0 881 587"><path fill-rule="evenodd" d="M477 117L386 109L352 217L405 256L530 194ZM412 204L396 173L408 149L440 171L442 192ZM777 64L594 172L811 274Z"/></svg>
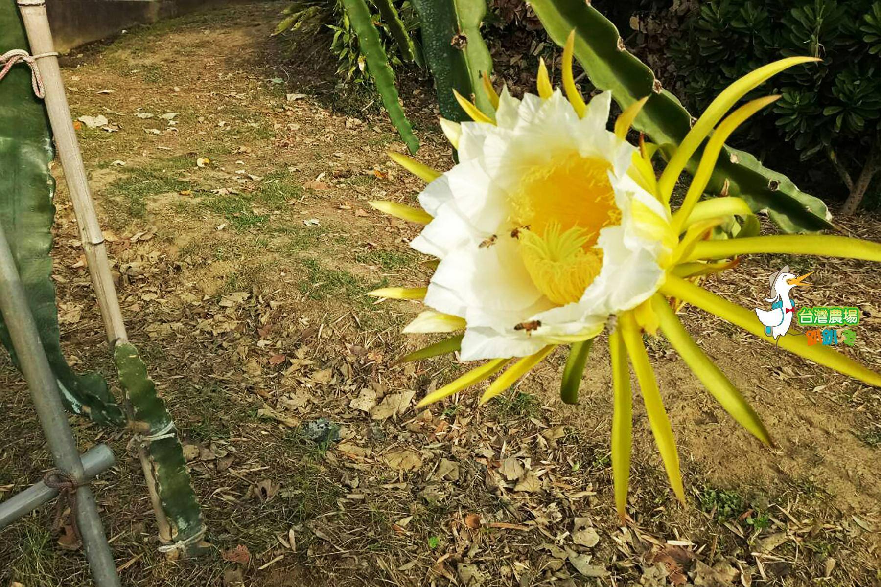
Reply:
<svg viewBox="0 0 881 587"><path fill-rule="evenodd" d="M512 198L523 263L554 304L578 301L603 266L596 238L621 222L610 168L572 151L527 172Z"/></svg>

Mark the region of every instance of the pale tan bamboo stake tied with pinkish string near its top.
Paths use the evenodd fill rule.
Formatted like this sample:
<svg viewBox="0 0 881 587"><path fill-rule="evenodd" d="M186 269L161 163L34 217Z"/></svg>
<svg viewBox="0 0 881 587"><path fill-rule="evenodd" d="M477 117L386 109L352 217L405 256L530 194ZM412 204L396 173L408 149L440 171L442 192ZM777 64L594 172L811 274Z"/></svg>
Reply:
<svg viewBox="0 0 881 587"><path fill-rule="evenodd" d="M70 202L73 204L74 215L77 217L79 238L83 243L89 275L92 277L95 297L98 300L101 318L104 320L104 328L107 331L107 341L113 349L117 343L127 341L128 335L125 332L125 324L122 322L122 310L119 306L119 298L116 297L113 275L110 273L104 235L98 223L98 215L95 213L92 194L89 192L83 156L79 150L76 131L70 117L70 106L68 106L67 96L64 93L61 68L58 66L57 56L53 55L55 54L55 44L49 29L46 3L45 0L18 0L18 4L32 55L48 54L39 59L37 66L40 69L45 88L49 124L55 135L58 158L61 159L64 179L70 192ZM131 422L134 411L128 396L123 398L123 405ZM144 470L144 480L147 483L153 512L159 525L159 539L162 542L170 542L172 540L171 525L168 523L165 510L162 509L152 463L143 444L138 444L137 456L141 461L141 468Z"/></svg>

